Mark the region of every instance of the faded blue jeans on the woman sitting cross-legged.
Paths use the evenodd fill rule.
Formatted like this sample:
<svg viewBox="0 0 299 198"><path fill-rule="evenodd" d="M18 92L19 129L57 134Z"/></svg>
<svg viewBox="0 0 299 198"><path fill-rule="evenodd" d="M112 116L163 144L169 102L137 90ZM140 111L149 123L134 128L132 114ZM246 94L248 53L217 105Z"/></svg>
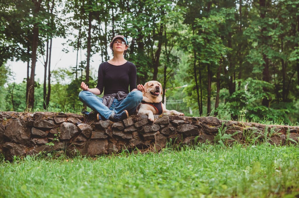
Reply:
<svg viewBox="0 0 299 198"><path fill-rule="evenodd" d="M132 115L137 105L142 101L142 92L139 90L130 92L123 100L114 99L110 108L103 104L103 99L90 91L81 91L79 99L86 106L99 113L103 119L108 120L112 113L121 113L127 110Z"/></svg>

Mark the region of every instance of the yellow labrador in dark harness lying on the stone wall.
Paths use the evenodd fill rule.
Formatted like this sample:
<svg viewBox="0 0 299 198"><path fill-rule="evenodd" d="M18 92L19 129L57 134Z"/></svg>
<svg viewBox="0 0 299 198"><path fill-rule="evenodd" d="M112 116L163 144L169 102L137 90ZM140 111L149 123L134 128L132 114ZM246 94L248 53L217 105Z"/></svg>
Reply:
<svg viewBox="0 0 299 198"><path fill-rule="evenodd" d="M154 121L154 115L166 114L184 116L184 113L176 110L167 110L162 103L162 85L158 81L149 81L144 84L142 102L137 107L137 115L147 115L148 119Z"/></svg>

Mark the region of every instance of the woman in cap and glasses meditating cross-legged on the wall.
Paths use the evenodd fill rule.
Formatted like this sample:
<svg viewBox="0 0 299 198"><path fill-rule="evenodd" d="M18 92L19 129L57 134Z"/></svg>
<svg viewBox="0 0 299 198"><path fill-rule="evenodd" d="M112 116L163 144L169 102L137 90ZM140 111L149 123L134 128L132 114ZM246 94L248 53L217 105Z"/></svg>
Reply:
<svg viewBox="0 0 299 198"><path fill-rule="evenodd" d="M128 47L126 38L116 35L110 43L113 58L100 64L96 88L81 83L79 99L96 112L97 120L126 119L142 100L144 86L136 87L136 66L123 57ZM96 96L103 91L103 98Z"/></svg>

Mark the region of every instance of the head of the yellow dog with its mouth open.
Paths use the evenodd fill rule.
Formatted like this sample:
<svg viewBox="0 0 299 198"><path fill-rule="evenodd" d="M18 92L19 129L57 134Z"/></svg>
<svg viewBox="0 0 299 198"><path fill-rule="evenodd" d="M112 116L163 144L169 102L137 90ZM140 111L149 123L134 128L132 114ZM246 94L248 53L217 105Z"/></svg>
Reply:
<svg viewBox="0 0 299 198"><path fill-rule="evenodd" d="M151 99L152 102L161 102L162 101L162 85L160 82L152 80L149 82L146 82L144 84L145 93L144 96L146 96L148 99ZM147 101L146 101L147 102Z"/></svg>

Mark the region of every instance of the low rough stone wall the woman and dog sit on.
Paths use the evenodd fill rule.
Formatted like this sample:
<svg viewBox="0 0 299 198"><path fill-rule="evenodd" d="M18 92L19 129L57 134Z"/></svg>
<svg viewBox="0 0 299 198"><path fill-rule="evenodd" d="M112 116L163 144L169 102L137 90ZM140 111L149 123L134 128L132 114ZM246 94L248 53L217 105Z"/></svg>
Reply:
<svg viewBox="0 0 299 198"><path fill-rule="evenodd" d="M85 123L83 116L72 113L0 112L0 152L7 160L14 155L54 150L67 155L89 156L119 153L123 149L131 152L136 148L158 152L170 139L172 144L213 143L217 138L225 137L224 134L233 138L225 138L227 142L244 143L255 138L284 145L288 141L298 142L299 127L221 121L215 117L161 115L155 116L154 123L144 115L130 116L115 123L109 120Z"/></svg>

